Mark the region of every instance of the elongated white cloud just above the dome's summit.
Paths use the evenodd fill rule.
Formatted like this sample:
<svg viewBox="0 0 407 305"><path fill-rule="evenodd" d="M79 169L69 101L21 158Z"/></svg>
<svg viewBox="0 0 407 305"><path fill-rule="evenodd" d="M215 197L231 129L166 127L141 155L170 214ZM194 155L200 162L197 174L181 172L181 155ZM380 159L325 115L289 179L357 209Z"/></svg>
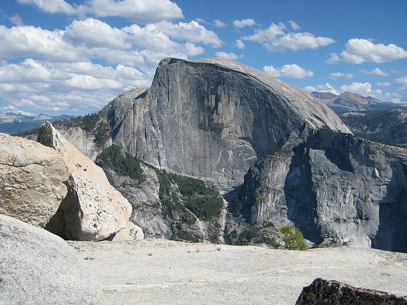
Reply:
<svg viewBox="0 0 407 305"><path fill-rule="evenodd" d="M150 24L149 24L150 25ZM166 35L180 40L188 40L195 43L211 45L215 48L221 47L223 42L213 31L208 31L204 26L196 21L178 22L173 24L163 21L154 25L159 31Z"/></svg>

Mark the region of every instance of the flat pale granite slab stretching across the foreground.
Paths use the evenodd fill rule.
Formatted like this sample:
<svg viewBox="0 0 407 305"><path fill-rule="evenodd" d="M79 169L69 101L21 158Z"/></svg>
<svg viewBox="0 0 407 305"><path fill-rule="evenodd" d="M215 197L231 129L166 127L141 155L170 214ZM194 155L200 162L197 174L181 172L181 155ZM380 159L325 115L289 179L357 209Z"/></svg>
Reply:
<svg viewBox="0 0 407 305"><path fill-rule="evenodd" d="M294 304L318 277L407 294L407 254L271 250L164 239L69 241L104 304Z"/></svg>

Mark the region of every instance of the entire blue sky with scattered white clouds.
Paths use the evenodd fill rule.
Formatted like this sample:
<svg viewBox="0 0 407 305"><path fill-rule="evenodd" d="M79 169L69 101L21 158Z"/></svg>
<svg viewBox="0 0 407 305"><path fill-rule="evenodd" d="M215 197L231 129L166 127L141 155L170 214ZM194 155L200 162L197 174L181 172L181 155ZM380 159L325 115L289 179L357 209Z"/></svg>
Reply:
<svg viewBox="0 0 407 305"><path fill-rule="evenodd" d="M2 0L0 111L85 114L160 59L226 57L308 92L407 102L407 1Z"/></svg>

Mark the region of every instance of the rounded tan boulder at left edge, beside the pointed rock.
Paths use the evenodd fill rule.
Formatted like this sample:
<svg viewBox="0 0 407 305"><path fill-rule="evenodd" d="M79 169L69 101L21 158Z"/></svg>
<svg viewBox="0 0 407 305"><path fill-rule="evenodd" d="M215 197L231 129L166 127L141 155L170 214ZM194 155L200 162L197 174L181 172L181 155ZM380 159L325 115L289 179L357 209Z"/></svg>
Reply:
<svg viewBox="0 0 407 305"><path fill-rule="evenodd" d="M44 228L67 194L68 177L54 149L0 134L0 214Z"/></svg>

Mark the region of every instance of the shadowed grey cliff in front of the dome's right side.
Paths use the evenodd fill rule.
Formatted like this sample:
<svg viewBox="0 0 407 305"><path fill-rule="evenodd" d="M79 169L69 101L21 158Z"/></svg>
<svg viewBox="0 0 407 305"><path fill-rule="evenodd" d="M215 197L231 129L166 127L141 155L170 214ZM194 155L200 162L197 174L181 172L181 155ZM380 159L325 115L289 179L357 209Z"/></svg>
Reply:
<svg viewBox="0 0 407 305"><path fill-rule="evenodd" d="M253 226L294 224L316 245L407 251L407 150L321 130L254 164L238 195Z"/></svg>

